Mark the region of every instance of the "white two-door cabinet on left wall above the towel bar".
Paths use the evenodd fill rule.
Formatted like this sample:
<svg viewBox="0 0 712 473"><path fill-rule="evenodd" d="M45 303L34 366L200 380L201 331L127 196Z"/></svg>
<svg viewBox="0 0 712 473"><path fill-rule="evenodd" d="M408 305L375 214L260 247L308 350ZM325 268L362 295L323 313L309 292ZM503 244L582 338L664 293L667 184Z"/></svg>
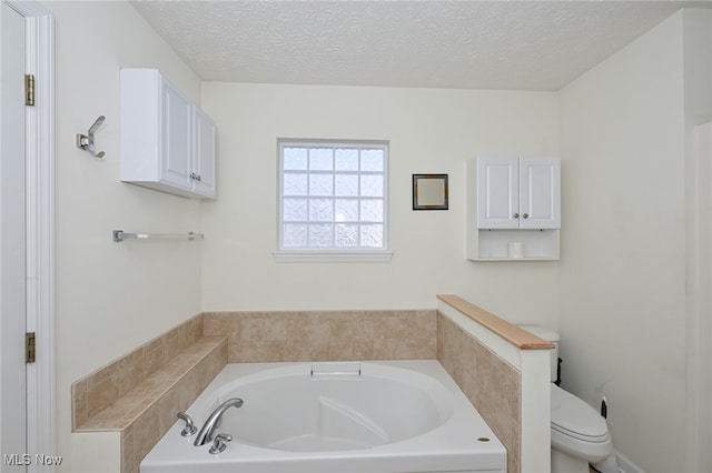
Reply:
<svg viewBox="0 0 712 473"><path fill-rule="evenodd" d="M215 123L156 69L121 70L121 181L215 198Z"/></svg>

